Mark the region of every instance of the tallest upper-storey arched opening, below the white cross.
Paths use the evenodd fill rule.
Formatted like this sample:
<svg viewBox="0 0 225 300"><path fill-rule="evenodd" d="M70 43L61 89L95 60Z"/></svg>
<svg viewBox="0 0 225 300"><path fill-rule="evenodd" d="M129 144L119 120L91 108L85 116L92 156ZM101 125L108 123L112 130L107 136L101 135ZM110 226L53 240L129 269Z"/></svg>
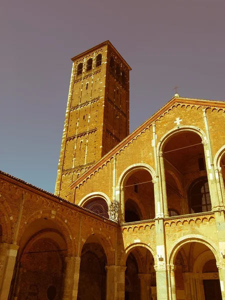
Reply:
<svg viewBox="0 0 225 300"><path fill-rule="evenodd" d="M165 142L162 153L168 208L178 214L210 211L204 147L200 135L189 130L177 131ZM188 188L193 187L195 181L199 181L195 190Z"/></svg>

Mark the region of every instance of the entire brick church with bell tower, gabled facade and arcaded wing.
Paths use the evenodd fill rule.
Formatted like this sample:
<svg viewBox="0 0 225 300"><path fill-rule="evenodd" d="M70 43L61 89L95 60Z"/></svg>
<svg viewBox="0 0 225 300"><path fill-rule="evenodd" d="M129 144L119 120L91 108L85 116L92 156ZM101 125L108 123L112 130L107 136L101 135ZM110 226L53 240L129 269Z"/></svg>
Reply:
<svg viewBox="0 0 225 300"><path fill-rule="evenodd" d="M225 103L129 134L126 61L72 61L55 194L0 172L0 299L225 300Z"/></svg>

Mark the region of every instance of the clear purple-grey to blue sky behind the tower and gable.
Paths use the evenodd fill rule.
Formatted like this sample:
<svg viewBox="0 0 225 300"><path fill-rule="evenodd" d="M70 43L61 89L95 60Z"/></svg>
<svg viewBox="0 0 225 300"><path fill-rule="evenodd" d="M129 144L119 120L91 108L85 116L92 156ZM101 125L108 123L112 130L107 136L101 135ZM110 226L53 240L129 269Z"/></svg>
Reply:
<svg viewBox="0 0 225 300"><path fill-rule="evenodd" d="M70 57L106 39L132 67L130 132L175 84L225 100L225 0L1 0L1 170L54 191Z"/></svg>

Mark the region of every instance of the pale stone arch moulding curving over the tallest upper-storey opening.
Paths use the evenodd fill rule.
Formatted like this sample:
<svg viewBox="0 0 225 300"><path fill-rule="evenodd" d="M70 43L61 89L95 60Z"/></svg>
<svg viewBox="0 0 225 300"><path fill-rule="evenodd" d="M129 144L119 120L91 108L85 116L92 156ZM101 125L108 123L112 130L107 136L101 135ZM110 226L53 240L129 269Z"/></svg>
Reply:
<svg viewBox="0 0 225 300"><path fill-rule="evenodd" d="M179 132L182 131L192 131L196 134L198 134L201 137L202 141L206 141L206 135L204 133L204 131L196 126L192 126L192 125L179 125L176 128L172 128L169 131L167 131L159 140L158 144L157 144L157 153L160 154L163 150L163 147L165 145L165 143L167 142L168 139L170 139L170 137L174 134L178 134Z"/></svg>

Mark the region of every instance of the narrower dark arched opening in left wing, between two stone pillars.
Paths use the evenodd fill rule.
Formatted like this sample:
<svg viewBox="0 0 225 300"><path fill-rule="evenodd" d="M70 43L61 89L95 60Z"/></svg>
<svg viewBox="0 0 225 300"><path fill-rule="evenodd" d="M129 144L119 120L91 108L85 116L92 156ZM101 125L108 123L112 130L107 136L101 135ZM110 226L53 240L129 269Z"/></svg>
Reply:
<svg viewBox="0 0 225 300"><path fill-rule="evenodd" d="M77 298L106 299L106 265L104 249L98 236L92 234L86 239L81 251Z"/></svg>

